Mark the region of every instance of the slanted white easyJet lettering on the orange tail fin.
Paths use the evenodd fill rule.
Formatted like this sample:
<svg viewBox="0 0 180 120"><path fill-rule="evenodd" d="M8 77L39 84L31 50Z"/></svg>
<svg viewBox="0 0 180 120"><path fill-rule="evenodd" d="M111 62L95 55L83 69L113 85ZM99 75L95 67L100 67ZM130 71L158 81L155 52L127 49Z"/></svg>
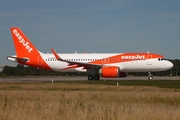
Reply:
<svg viewBox="0 0 180 120"><path fill-rule="evenodd" d="M26 50L31 53L33 48L29 45L29 42L27 42L16 29L13 30L13 33L18 38L19 43L21 43L26 48Z"/></svg>

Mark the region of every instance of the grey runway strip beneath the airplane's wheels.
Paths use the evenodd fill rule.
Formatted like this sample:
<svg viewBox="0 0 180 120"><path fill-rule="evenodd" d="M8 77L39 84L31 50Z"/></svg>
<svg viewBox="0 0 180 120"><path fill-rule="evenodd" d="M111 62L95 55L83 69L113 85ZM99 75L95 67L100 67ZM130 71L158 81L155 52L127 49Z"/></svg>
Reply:
<svg viewBox="0 0 180 120"><path fill-rule="evenodd" d="M108 81L108 80L148 80L147 76L143 77L132 77L128 76L125 78L101 78L100 80ZM180 80L179 76L166 76L159 77L154 76L153 80ZM0 82L55 82L55 81L88 81L87 77L9 77L9 78L0 78Z"/></svg>

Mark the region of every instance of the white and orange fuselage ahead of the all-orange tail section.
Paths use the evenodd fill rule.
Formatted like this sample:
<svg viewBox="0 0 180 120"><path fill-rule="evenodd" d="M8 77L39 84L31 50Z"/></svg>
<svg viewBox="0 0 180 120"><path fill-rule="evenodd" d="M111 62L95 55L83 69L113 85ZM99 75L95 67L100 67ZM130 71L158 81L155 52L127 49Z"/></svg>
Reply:
<svg viewBox="0 0 180 120"><path fill-rule="evenodd" d="M163 56L151 53L75 53L58 54L67 61L93 63L102 66L118 66L122 72L155 72L172 68L173 64ZM41 54L46 63L54 71L86 72L83 67L69 65L67 62L58 61L53 54ZM39 61L41 63L41 61Z"/></svg>

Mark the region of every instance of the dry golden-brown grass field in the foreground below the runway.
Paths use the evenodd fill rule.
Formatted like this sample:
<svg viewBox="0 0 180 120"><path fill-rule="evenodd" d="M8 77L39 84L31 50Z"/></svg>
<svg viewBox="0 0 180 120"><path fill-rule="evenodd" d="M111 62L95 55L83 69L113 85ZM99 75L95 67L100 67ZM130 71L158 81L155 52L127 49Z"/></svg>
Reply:
<svg viewBox="0 0 180 120"><path fill-rule="evenodd" d="M4 82L0 119L177 120L179 82Z"/></svg>

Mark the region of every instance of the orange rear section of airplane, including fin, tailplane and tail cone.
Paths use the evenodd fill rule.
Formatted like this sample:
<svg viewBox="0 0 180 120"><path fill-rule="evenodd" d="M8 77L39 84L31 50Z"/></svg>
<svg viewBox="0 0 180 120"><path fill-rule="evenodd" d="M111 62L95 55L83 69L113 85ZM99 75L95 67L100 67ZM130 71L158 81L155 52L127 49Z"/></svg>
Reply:
<svg viewBox="0 0 180 120"><path fill-rule="evenodd" d="M8 59L20 64L52 70L43 60L42 54L36 49L20 28L11 28L11 33L16 49L16 56L10 56Z"/></svg>

